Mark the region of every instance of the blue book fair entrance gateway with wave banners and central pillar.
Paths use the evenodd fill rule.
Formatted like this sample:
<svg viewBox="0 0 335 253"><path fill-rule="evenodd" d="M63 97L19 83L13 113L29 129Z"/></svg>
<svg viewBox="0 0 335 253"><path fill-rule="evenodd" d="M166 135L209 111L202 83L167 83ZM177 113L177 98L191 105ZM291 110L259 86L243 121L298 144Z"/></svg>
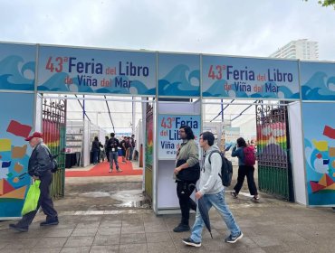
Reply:
<svg viewBox="0 0 335 253"><path fill-rule="evenodd" d="M198 136L204 99L278 100L288 104L295 201L334 206L334 87L334 62L2 42L0 217L20 216L30 184L24 173L31 150L24 136L41 129L38 93L154 98L144 120L144 146L146 174L151 170L146 190L156 213L178 206L171 174L179 119L196 121ZM162 100L176 98L189 101Z"/></svg>

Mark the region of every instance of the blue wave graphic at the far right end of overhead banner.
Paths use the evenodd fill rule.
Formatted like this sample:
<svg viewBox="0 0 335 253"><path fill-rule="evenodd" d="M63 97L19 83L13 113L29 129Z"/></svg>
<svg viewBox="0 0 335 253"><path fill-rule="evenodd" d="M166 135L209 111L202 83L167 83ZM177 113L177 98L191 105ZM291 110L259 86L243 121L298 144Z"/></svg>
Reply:
<svg viewBox="0 0 335 253"><path fill-rule="evenodd" d="M325 72L316 72L310 80L302 85L302 99L309 100L335 100L335 77L327 81Z"/></svg>

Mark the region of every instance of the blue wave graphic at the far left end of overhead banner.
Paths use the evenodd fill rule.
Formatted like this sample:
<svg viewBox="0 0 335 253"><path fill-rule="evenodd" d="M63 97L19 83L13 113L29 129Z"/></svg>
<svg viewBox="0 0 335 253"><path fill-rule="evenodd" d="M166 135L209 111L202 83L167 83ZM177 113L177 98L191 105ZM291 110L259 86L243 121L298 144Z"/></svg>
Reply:
<svg viewBox="0 0 335 253"><path fill-rule="evenodd" d="M0 61L0 89L34 90L35 62L11 55Z"/></svg>

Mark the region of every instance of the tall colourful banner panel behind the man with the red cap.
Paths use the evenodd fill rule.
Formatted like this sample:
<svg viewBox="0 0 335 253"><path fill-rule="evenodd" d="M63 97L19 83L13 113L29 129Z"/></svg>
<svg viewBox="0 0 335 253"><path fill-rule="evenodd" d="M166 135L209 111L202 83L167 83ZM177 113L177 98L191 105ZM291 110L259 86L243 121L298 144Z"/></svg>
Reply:
<svg viewBox="0 0 335 253"><path fill-rule="evenodd" d="M19 103L17 101L20 101ZM33 128L34 94L0 93L0 217L21 217L31 183L31 147L24 138Z"/></svg>

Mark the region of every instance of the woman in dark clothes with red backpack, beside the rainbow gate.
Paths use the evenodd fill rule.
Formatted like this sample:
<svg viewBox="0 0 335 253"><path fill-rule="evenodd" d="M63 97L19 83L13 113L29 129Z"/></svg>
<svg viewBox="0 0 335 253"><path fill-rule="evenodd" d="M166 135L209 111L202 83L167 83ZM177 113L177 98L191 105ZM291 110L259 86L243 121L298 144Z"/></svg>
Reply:
<svg viewBox="0 0 335 253"><path fill-rule="evenodd" d="M237 183L234 187L235 192L231 192L233 198L237 198L243 184L244 177L248 181L248 188L251 195L253 195L253 201L259 201L260 197L257 192L256 183L254 183L254 147L247 146L243 137L237 139L237 145L233 148L232 156L238 157L238 176Z"/></svg>

